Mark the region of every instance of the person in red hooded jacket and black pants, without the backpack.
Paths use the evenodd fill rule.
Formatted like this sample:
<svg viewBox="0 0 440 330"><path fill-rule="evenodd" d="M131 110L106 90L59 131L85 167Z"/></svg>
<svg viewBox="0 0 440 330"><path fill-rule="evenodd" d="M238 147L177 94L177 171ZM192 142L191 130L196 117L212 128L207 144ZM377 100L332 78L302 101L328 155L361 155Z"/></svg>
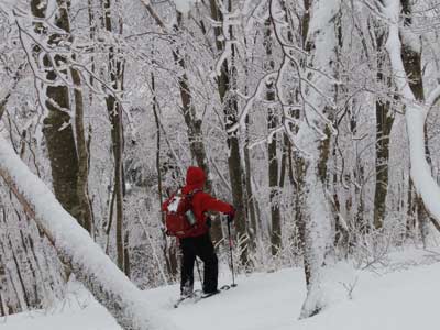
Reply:
<svg viewBox="0 0 440 330"><path fill-rule="evenodd" d="M196 256L204 262L204 294L212 295L218 293L218 258L211 237L209 233L210 223L208 211L217 211L228 215L228 221L234 217L234 208L224 201L213 198L205 193L205 172L200 167L190 166L186 174L186 186L182 189L185 195L193 194L193 212L197 219L197 228L191 233L180 239L183 252L180 294L189 296L194 288L194 264ZM163 208L166 209L164 204Z"/></svg>

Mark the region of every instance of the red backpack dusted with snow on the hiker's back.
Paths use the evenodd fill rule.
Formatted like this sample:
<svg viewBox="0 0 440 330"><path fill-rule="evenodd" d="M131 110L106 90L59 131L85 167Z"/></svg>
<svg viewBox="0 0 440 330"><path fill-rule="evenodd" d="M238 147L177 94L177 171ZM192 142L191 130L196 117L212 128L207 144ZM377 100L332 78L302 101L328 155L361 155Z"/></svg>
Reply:
<svg viewBox="0 0 440 330"><path fill-rule="evenodd" d="M197 220L193 212L193 197L197 191L183 194L178 190L166 201L168 205L165 215L167 235L187 238L197 228Z"/></svg>

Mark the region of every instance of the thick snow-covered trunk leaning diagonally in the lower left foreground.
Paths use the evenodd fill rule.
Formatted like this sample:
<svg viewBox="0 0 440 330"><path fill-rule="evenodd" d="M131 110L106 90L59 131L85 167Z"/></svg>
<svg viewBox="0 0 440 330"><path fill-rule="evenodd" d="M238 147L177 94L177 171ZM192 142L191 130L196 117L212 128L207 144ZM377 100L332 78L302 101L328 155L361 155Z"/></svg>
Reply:
<svg viewBox="0 0 440 330"><path fill-rule="evenodd" d="M0 136L0 176L54 245L59 258L127 330L175 329L150 310L142 292L118 270L52 191ZM111 280L109 280L109 278Z"/></svg>

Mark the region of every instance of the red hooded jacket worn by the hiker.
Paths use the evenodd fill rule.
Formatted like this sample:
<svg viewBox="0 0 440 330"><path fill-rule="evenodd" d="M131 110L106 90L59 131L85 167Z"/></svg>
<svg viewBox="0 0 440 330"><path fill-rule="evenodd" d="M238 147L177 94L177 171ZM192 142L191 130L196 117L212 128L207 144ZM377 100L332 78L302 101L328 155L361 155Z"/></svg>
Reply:
<svg viewBox="0 0 440 330"><path fill-rule="evenodd" d="M182 188L183 194L190 194L194 190L199 190L193 196L193 212L197 219L197 228L191 232L190 237L199 237L209 231L207 224L207 211L217 211L222 213L234 212L234 208L230 204L216 199L211 195L202 191L205 183L205 172L200 167L190 166L186 173L186 186ZM168 207L168 200L162 206L164 211Z"/></svg>

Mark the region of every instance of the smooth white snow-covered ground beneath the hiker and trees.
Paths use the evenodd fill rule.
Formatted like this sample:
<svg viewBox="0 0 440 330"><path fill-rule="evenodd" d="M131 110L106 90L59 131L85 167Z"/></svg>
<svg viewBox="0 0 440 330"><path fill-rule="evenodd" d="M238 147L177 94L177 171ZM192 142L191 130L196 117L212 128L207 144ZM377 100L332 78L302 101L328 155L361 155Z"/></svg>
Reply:
<svg viewBox="0 0 440 330"><path fill-rule="evenodd" d="M177 286L145 292L145 304L182 330L436 330L439 261L437 253L414 250L364 271L339 263L327 271L329 307L305 320L298 320L306 294L300 268L239 276L237 288L178 309L173 308ZM120 330L90 295L79 292L52 310L0 318L0 329Z"/></svg>

